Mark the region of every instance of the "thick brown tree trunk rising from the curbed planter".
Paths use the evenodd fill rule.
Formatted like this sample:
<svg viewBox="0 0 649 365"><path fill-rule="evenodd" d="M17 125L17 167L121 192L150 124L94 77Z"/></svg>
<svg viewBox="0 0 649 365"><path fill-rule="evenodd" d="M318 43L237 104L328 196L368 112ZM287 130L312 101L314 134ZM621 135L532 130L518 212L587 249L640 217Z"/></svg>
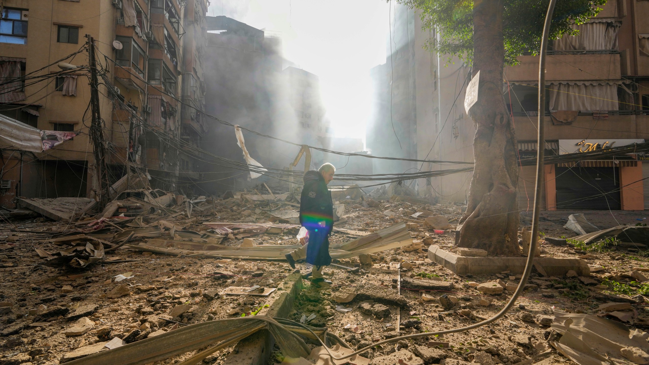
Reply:
<svg viewBox="0 0 649 365"><path fill-rule="evenodd" d="M480 71L478 101L471 108L476 164L458 246L518 256L519 169L516 136L502 95L502 12L503 0L474 0L473 75Z"/></svg>

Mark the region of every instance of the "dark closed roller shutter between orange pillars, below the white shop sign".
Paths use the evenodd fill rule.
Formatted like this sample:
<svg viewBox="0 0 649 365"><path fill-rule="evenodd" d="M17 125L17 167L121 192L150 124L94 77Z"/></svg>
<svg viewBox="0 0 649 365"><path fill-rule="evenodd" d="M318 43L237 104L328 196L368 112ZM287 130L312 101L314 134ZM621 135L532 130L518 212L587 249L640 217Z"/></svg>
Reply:
<svg viewBox="0 0 649 365"><path fill-rule="evenodd" d="M620 210L618 168L556 169L558 210Z"/></svg>

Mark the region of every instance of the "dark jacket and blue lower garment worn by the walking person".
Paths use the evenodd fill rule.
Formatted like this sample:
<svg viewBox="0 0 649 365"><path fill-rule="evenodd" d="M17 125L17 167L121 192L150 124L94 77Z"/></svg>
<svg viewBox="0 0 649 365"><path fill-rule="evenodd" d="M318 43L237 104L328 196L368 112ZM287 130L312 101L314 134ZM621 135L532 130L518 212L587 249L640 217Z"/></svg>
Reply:
<svg viewBox="0 0 649 365"><path fill-rule="evenodd" d="M310 170L304 174L300 224L309 230L306 262L317 266L331 264L328 236L334 229L334 204L320 171Z"/></svg>

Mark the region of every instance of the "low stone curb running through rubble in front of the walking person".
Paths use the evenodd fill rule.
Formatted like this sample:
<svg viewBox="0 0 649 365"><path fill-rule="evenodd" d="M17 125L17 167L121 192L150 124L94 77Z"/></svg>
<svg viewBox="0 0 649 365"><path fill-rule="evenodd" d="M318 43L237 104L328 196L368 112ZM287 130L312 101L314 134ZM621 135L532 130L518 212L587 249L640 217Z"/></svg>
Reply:
<svg viewBox="0 0 649 365"><path fill-rule="evenodd" d="M281 288L281 290L280 290ZM302 290L302 274L293 273L278 286L267 299L268 308L263 308L259 314L271 317L286 318L293 308L295 298ZM258 331L239 341L234 351L228 355L225 364L228 365L258 365L266 364L275 346L275 339L267 330Z"/></svg>

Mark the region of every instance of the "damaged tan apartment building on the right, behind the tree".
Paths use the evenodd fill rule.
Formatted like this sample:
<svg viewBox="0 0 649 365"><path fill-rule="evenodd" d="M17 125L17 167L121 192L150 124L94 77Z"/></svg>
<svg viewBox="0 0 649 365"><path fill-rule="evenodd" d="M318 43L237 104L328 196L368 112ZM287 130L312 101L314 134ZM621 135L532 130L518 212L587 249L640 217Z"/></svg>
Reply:
<svg viewBox="0 0 649 365"><path fill-rule="evenodd" d="M395 5L386 64L372 70L374 110L367 131L377 155L473 161L474 123L464 108L471 66L424 49L436 38L415 10ZM596 151L642 143L649 136L649 3L609 0L578 36L552 40L546 60L545 154ZM539 58L506 66L503 95L515 125L521 159L537 151ZM546 210L649 208L649 159L644 153L545 165ZM378 171L447 167L378 161ZM449 166L448 168L453 168ZM520 166L519 208L531 212L535 166ZM464 202L471 172L411 181L420 195Z"/></svg>

